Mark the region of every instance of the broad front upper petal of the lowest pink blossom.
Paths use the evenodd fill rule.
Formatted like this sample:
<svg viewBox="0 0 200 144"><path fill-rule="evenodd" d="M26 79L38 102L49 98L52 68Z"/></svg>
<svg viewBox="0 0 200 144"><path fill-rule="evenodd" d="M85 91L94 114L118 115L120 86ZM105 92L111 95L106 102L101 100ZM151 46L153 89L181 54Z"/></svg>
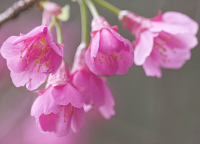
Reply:
<svg viewBox="0 0 200 144"><path fill-rule="evenodd" d="M59 105L68 105L71 103L76 108L83 107L83 97L80 92L72 86L70 83L67 83L64 86L56 86L52 90L52 95Z"/></svg>

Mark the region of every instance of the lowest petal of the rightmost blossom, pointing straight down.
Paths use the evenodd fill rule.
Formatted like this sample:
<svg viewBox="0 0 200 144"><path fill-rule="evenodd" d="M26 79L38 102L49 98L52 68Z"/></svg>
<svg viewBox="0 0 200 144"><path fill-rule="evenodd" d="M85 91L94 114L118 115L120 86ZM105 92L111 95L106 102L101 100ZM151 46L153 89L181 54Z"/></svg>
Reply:
<svg viewBox="0 0 200 144"><path fill-rule="evenodd" d="M162 76L158 62L151 56L147 57L143 64L143 68L147 76L156 76L158 78L161 78Z"/></svg>

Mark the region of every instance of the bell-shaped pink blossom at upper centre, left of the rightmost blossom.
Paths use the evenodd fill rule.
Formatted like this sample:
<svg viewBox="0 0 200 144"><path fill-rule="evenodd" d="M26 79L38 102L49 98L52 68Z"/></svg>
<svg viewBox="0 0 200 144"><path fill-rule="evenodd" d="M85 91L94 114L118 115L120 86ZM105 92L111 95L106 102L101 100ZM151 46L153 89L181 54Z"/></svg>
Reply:
<svg viewBox="0 0 200 144"><path fill-rule="evenodd" d="M132 44L103 17L92 20L91 43L85 54L89 69L96 75L124 75L133 64Z"/></svg>

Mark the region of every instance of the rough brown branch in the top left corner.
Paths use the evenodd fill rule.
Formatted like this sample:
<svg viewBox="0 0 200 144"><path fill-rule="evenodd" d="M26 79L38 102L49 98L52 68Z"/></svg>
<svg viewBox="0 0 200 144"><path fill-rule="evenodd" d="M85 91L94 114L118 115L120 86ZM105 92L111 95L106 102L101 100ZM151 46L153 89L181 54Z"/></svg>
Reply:
<svg viewBox="0 0 200 144"><path fill-rule="evenodd" d="M32 7L40 0L19 0L9 7L5 12L0 14L0 26L5 22L16 18L20 13Z"/></svg>

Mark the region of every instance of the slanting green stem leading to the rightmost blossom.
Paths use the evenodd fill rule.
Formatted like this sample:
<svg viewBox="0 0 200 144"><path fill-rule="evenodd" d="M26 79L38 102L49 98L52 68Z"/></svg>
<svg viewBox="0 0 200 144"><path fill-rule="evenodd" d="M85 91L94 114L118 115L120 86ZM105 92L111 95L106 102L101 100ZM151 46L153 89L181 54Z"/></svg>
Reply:
<svg viewBox="0 0 200 144"><path fill-rule="evenodd" d="M113 12L117 16L119 15L119 13L121 11L119 8L108 3L107 1L104 1L104 0L93 0L93 1L95 1L97 4L101 5L102 7L108 9L109 11Z"/></svg>

